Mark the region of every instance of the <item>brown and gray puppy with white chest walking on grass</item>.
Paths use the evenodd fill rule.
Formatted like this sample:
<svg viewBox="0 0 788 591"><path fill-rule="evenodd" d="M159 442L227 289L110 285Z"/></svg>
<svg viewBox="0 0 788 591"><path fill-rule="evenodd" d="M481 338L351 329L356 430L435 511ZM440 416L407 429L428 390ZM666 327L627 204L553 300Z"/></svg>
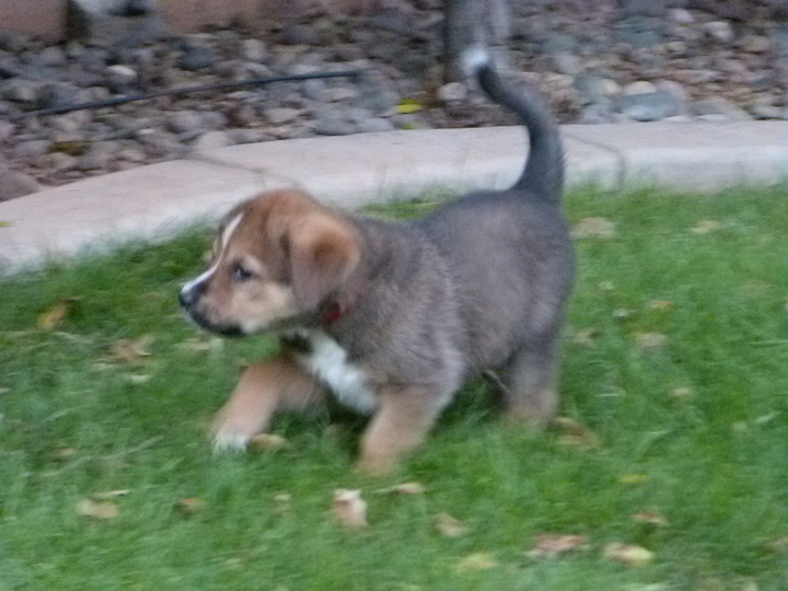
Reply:
<svg viewBox="0 0 788 591"><path fill-rule="evenodd" d="M275 413L331 392L371 415L360 465L387 472L485 370L500 372L512 417L554 415L573 280L559 132L486 53L467 57L485 92L528 128L530 154L510 189L473 193L407 223L349 217L294 190L224 218L210 268L181 303L216 333L282 336L281 352L250 367L219 413L217 449L244 449Z"/></svg>

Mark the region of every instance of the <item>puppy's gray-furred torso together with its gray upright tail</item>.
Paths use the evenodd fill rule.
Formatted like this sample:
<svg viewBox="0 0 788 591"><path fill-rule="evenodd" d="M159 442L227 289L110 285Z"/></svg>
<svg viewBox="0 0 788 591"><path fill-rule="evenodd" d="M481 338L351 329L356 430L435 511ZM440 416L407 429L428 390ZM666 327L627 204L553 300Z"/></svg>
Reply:
<svg viewBox="0 0 788 591"><path fill-rule="evenodd" d="M522 351L545 351L545 372L553 371L573 281L557 127L489 62L476 73L529 129L521 178L409 223L354 220L363 259L347 313L327 328L381 385L425 385L439 404L470 374L514 366Z"/></svg>

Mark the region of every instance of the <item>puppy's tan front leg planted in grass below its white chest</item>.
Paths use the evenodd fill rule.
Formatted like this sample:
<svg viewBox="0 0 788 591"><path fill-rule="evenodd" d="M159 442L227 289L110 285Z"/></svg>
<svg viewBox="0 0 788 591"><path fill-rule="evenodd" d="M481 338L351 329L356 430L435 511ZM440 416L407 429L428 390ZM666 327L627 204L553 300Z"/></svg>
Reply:
<svg viewBox="0 0 788 591"><path fill-rule="evenodd" d="M361 440L358 467L383 475L421 443L444 401L425 387L384 389L378 401L378 410Z"/></svg>

